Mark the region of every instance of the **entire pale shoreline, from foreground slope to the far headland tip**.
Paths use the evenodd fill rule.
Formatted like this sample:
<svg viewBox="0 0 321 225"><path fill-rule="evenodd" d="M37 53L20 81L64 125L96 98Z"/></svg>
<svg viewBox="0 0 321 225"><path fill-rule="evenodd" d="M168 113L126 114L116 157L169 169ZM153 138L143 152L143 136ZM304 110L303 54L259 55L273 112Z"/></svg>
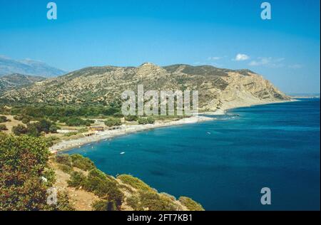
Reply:
<svg viewBox="0 0 321 225"><path fill-rule="evenodd" d="M233 110L235 108L243 108L243 107L251 107L254 105L267 105L267 104L277 104L277 103L290 103L295 102L297 100L285 100L285 101L276 101L270 103L253 103L248 105L233 105L230 107L221 108L215 110L214 112L200 112L200 115L183 118L180 120L170 121L170 122L155 122L154 124L147 125L122 125L119 130L106 130L103 132L98 132L95 136L91 137L80 137L74 140L63 140L58 142L56 145L49 147L51 153L56 154L58 152L68 151L77 147L81 147L83 145L88 145L93 142L100 142L102 140L111 139L113 137L118 137L122 135L129 135L135 132L141 132L146 130L152 130L161 127L171 127L175 125L186 125L196 122L206 122L211 120L216 120L213 117L206 117L203 115L225 115L228 110Z"/></svg>

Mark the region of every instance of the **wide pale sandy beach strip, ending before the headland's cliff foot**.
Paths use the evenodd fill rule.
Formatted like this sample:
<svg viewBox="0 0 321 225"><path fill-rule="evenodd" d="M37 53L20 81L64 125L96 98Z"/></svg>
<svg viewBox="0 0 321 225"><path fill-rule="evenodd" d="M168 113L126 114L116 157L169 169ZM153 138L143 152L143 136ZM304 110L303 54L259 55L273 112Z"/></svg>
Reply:
<svg viewBox="0 0 321 225"><path fill-rule="evenodd" d="M49 148L51 153L57 153L64 150L70 150L76 147L81 147L91 142L98 142L101 140L106 140L108 138L117 137L120 135L128 135L134 132L139 132L143 130L151 130L158 127L168 127L175 125L185 125L195 122L205 122L209 120L215 120L213 117L205 117L205 116L193 116L188 118L183 118L181 120L170 121L170 122L155 122L154 124L147 125L121 125L121 128L118 130L105 130L102 132L97 132L96 135L91 137L81 137L76 140L63 140L58 144Z"/></svg>

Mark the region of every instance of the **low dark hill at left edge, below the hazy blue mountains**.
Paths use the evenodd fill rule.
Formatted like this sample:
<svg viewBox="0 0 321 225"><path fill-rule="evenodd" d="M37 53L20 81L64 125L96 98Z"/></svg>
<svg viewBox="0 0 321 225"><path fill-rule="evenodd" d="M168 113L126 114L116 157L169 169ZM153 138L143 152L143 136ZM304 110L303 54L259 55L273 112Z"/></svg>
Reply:
<svg viewBox="0 0 321 225"><path fill-rule="evenodd" d="M4 75L0 77L0 93L3 93L6 90L31 85L44 79L45 78L39 76L23 75L19 73Z"/></svg>

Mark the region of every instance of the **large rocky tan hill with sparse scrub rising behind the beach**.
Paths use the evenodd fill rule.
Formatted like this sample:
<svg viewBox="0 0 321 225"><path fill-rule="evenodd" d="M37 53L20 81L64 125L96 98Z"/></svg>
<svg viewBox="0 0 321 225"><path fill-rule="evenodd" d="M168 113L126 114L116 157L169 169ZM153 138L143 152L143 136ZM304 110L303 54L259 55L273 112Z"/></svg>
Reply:
<svg viewBox="0 0 321 225"><path fill-rule="evenodd" d="M6 91L2 103L104 104L121 98L123 90L198 90L199 110L215 111L238 106L290 100L263 76L251 70L213 66L90 67L30 87Z"/></svg>

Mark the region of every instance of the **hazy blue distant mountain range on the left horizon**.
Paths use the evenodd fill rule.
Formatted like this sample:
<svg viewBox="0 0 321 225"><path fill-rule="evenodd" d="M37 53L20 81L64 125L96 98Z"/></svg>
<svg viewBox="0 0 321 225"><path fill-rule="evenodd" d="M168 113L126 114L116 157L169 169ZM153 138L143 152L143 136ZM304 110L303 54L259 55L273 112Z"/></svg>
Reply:
<svg viewBox="0 0 321 225"><path fill-rule="evenodd" d="M47 65L40 61L25 59L16 61L6 56L0 56L0 76L11 73L20 73L24 75L37 75L42 77L56 77L63 75L66 71Z"/></svg>

